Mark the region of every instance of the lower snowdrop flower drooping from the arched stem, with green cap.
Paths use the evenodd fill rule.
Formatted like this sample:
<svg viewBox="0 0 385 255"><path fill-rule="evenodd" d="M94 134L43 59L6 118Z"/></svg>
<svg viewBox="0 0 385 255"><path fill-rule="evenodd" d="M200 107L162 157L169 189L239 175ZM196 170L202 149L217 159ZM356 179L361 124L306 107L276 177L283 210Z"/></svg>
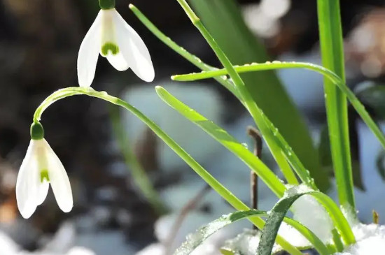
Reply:
<svg viewBox="0 0 385 255"><path fill-rule="evenodd" d="M43 203L50 184L60 209L71 211L72 191L66 170L44 139L43 126L34 122L31 125L31 143L16 181L16 200L22 217L28 219Z"/></svg>

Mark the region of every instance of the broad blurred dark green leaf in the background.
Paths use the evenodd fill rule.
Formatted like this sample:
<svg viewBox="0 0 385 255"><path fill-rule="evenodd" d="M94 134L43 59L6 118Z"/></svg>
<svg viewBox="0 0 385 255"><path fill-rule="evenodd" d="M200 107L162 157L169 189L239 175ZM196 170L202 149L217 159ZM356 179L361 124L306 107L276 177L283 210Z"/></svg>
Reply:
<svg viewBox="0 0 385 255"><path fill-rule="evenodd" d="M269 60L264 45L246 26L237 1L190 0L189 3L232 64ZM307 126L274 71L245 73L241 78L258 108L279 129L304 167L310 171L317 187L323 191L328 189L329 179L321 169ZM260 125L258 127L262 129ZM263 135L267 136L266 133Z"/></svg>

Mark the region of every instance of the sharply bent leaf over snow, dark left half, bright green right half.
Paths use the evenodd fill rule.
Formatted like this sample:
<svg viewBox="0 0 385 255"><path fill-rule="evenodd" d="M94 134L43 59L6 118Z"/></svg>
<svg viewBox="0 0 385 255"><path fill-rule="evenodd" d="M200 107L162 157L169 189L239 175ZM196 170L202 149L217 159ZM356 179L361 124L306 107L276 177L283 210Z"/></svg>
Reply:
<svg viewBox="0 0 385 255"><path fill-rule="evenodd" d="M293 205L298 198L304 195L314 196L314 198L325 207L325 210L328 212L330 219L332 219L339 235L342 236L345 245L351 245L356 242L348 221L346 221L344 215L330 197L320 191L309 191L307 188L301 189L301 187L293 187L288 189L286 196L283 196L270 211L265 227L262 230L260 244L258 245L258 255L272 254L274 240L278 233L279 226L281 226L281 222L290 209L290 206Z"/></svg>

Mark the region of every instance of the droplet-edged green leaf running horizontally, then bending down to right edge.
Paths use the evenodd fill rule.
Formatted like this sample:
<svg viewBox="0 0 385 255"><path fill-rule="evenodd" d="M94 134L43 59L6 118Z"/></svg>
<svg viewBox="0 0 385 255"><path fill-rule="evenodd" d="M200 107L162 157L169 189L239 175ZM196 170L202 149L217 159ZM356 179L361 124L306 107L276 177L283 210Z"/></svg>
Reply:
<svg viewBox="0 0 385 255"><path fill-rule="evenodd" d="M332 85L337 86L342 93L344 93L349 99L353 108L356 109L358 115L363 119L363 122L367 124L370 130L374 133L374 136L377 137L379 143L381 143L382 147L385 149L385 136L382 133L379 126L377 126L376 122L370 117L367 110L365 110L365 106L358 100L357 96L346 86L341 78L338 75L333 73L332 71L324 68L322 66L318 66L316 64L303 63L303 62L280 62L280 61L272 61L271 63L267 62L264 64L248 64L244 66L235 66L235 70L239 73L253 72L253 71L265 71L272 69L288 69L288 68L305 68L311 71L315 71L317 73L321 73L325 78L328 78ZM174 75L172 76L173 80L183 80L183 81L191 81L191 80L202 80L208 78L214 78L216 76L227 75L228 71L225 69L220 69L217 71L204 71L202 73L191 73L186 75Z"/></svg>

